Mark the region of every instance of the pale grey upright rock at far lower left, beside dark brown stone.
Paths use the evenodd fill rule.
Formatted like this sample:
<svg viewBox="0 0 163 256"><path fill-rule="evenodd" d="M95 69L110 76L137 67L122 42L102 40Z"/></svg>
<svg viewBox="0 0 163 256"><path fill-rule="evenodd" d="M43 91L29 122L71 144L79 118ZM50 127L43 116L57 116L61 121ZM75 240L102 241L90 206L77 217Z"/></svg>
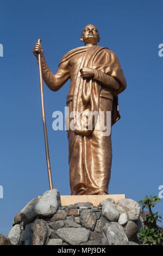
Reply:
<svg viewBox="0 0 163 256"><path fill-rule="evenodd" d="M22 231L23 228L20 224L14 225L14 227L10 230L7 238L10 240L12 245L19 244Z"/></svg>

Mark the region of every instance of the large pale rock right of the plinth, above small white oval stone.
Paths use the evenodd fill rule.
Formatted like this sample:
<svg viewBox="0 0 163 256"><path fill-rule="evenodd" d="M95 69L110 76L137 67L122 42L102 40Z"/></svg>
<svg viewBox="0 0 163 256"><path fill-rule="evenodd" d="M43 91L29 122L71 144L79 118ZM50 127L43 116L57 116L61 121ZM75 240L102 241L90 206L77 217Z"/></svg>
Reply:
<svg viewBox="0 0 163 256"><path fill-rule="evenodd" d="M128 220L137 221L140 216L140 206L132 199L120 199L116 203L116 208L120 214L124 212L128 216Z"/></svg>

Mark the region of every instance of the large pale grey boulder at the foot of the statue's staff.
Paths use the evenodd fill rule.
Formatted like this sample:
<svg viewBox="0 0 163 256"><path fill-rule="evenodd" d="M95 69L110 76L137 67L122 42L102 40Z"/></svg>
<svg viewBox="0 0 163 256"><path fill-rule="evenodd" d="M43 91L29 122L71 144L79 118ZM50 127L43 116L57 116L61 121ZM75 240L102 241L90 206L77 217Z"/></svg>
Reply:
<svg viewBox="0 0 163 256"><path fill-rule="evenodd" d="M57 212L59 206L61 206L59 191L56 189L48 190L38 200L35 212L37 216L52 217Z"/></svg>

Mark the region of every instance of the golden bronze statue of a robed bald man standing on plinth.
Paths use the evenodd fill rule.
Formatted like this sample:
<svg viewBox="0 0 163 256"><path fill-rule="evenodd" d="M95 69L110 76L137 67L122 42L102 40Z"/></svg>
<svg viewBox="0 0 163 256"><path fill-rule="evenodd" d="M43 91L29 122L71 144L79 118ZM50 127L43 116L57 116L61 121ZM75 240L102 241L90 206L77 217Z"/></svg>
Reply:
<svg viewBox="0 0 163 256"><path fill-rule="evenodd" d="M66 53L55 75L48 68L42 46L35 44L33 53L36 57L38 52L41 54L43 80L55 92L70 78L66 102L69 113L79 113L81 118L86 111L103 112L106 118L106 113L110 112L111 125L114 125L120 119L118 94L126 89L121 65L114 52L97 46L100 38L95 26L85 26L80 40L85 46ZM83 120L79 121L76 129L67 130L71 194L108 194L112 161L111 133L104 136L101 127L96 129L97 119L91 130Z"/></svg>

